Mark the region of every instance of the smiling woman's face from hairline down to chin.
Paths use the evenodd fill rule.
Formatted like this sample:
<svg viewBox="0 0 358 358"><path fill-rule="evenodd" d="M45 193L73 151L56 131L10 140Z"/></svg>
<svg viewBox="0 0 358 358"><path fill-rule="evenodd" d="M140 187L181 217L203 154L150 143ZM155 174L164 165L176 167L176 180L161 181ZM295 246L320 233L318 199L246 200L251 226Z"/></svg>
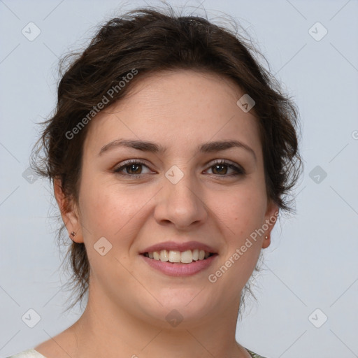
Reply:
<svg viewBox="0 0 358 358"><path fill-rule="evenodd" d="M237 309L278 213L257 120L236 104L243 94L210 73L162 72L92 120L79 210L66 214L90 261L89 302L183 327ZM162 262L162 250L194 261Z"/></svg>

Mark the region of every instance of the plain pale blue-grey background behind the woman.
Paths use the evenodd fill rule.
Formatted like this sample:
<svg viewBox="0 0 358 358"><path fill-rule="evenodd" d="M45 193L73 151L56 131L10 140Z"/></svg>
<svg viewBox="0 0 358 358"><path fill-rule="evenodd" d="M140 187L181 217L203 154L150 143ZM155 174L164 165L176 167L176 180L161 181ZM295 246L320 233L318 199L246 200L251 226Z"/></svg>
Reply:
<svg viewBox="0 0 358 358"><path fill-rule="evenodd" d="M1 357L55 336L80 315L79 309L62 315L68 293L59 290L66 276L58 271L48 184L30 184L22 173L38 136L35 123L55 105L57 57L81 48L98 22L134 3L145 5L0 0ZM275 227L257 280L259 303L248 306L237 339L266 357L358 357L358 1L206 0L203 6L209 18L222 11L248 29L296 100L303 128L297 215ZM29 22L41 29L34 41L22 34ZM328 31L320 41L308 32L316 22ZM319 183L310 178L316 166L327 173ZM32 329L21 319L29 308L41 315ZM309 320L317 308L322 313ZM312 322L321 324L323 314L328 320L316 328Z"/></svg>

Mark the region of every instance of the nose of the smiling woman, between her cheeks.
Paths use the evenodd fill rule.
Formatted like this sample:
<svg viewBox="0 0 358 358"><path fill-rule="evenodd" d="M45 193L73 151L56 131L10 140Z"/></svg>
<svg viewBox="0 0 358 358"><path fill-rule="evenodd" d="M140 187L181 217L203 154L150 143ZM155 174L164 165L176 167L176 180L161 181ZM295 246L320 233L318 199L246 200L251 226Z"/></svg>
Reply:
<svg viewBox="0 0 358 358"><path fill-rule="evenodd" d="M179 182L173 183L164 177L163 185L154 214L159 224L173 224L176 229L185 231L206 222L208 211L194 178L185 174Z"/></svg>

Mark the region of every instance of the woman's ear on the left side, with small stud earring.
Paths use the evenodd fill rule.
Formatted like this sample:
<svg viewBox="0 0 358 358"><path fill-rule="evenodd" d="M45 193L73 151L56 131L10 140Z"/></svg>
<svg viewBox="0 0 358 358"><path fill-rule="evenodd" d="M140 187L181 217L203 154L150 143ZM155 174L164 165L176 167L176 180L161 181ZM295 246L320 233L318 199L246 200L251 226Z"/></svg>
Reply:
<svg viewBox="0 0 358 358"><path fill-rule="evenodd" d="M83 243L83 235L81 232L80 220L78 215L78 208L73 200L66 197L62 189L62 180L55 178L53 181L55 198L59 210L61 212L62 220L69 232L69 237L76 243ZM75 232L76 236L71 236L71 232ZM76 240L75 240L76 238Z"/></svg>

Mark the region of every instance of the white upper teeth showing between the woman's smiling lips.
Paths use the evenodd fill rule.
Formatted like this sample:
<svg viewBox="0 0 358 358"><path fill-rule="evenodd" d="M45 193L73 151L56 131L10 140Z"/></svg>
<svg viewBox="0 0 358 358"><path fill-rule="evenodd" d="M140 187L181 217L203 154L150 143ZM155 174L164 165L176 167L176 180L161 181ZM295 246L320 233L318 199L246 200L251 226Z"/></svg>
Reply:
<svg viewBox="0 0 358 358"><path fill-rule="evenodd" d="M192 264L192 262L203 261L208 259L213 255L212 252L207 252L204 250L194 249L194 250L160 250L154 252L144 252L141 254L149 259L153 259L161 262L170 262L172 264Z"/></svg>

